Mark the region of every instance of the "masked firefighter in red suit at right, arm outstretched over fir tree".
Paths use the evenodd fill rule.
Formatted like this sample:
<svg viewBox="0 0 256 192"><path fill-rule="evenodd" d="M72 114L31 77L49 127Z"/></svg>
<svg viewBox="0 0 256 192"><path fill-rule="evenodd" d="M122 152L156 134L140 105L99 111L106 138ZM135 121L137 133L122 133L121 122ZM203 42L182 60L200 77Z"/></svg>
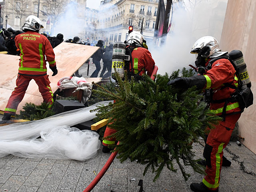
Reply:
<svg viewBox="0 0 256 192"><path fill-rule="evenodd" d="M228 59L223 58L227 52L220 52L218 41L211 36L198 39L192 47L191 53L198 54L195 64L201 75L189 78L170 80L168 85L190 88L197 86L205 92L210 91L206 100L210 103L210 110L223 120L215 129L210 130L204 147L206 161L206 176L200 184L192 183L194 192L218 192L220 171L222 168L223 149L227 146L235 124L240 118L241 110L237 101L231 100L238 87L235 69ZM218 59L218 57L222 58ZM212 62L211 62L212 60Z"/></svg>

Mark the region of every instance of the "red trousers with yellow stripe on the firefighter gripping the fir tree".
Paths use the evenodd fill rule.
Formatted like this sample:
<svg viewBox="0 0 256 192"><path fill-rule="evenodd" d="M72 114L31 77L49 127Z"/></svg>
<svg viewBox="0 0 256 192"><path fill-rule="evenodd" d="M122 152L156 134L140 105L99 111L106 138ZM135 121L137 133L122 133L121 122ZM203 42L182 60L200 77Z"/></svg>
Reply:
<svg viewBox="0 0 256 192"><path fill-rule="evenodd" d="M216 190L219 187L223 149L227 146L240 115L226 116L226 120L211 130L207 137L204 148L207 175L204 176L203 183L210 190Z"/></svg>

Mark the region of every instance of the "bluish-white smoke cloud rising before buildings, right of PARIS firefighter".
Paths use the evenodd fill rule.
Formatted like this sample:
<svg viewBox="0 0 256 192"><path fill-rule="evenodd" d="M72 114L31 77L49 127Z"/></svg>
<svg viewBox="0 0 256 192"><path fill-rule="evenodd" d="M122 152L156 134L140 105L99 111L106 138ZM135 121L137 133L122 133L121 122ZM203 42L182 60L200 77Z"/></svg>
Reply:
<svg viewBox="0 0 256 192"><path fill-rule="evenodd" d="M73 39L74 36L81 38L85 30L85 7L83 11L80 11L80 6L77 2L70 2L66 6L67 9L64 11L64 14L60 16L56 25L53 26L52 36L61 33L64 36L64 40L68 38Z"/></svg>

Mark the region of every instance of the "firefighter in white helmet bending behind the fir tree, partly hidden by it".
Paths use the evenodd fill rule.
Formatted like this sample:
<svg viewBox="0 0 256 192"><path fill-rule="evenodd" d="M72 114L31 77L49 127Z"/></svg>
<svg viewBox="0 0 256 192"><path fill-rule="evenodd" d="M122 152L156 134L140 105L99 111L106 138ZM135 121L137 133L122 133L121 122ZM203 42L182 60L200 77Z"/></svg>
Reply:
<svg viewBox="0 0 256 192"><path fill-rule="evenodd" d="M126 66L128 71L128 76L134 76L136 80L140 80L142 74L146 73L148 76L151 76L155 62L151 56L151 53L147 49L144 37L138 32L131 32L127 37L127 48L126 54L131 55L131 61L129 66ZM104 132L104 137L110 136L115 133L116 130L110 129L108 126ZM115 138L108 138L102 141L103 148L102 152L110 152L108 148L109 144L115 144Z"/></svg>

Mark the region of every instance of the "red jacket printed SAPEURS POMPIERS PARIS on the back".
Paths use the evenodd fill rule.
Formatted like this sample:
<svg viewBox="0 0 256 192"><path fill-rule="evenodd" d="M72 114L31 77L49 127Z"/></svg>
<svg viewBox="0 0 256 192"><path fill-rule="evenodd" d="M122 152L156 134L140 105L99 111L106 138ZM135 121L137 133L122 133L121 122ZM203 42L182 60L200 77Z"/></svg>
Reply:
<svg viewBox="0 0 256 192"><path fill-rule="evenodd" d="M56 65L55 54L46 36L28 31L15 37L15 45L20 49L19 74L28 76L46 75L46 61L51 67Z"/></svg>

